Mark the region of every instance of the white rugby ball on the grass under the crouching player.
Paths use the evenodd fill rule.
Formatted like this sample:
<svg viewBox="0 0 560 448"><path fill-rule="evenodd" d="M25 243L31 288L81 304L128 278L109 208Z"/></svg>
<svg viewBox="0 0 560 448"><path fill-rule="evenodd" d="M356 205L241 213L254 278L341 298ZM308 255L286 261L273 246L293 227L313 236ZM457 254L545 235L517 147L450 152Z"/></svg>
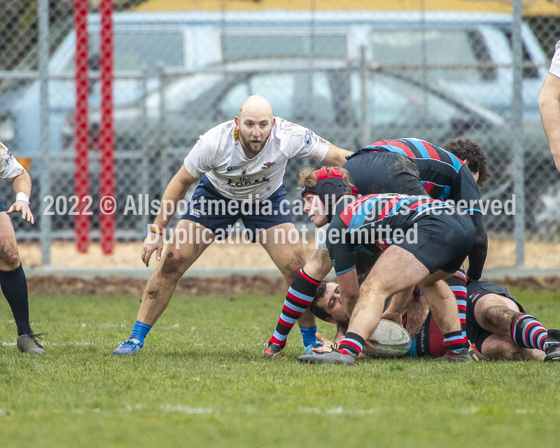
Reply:
<svg viewBox="0 0 560 448"><path fill-rule="evenodd" d="M405 356L412 339L404 327L381 319L372 337L365 343L363 353L371 358L398 358Z"/></svg>

